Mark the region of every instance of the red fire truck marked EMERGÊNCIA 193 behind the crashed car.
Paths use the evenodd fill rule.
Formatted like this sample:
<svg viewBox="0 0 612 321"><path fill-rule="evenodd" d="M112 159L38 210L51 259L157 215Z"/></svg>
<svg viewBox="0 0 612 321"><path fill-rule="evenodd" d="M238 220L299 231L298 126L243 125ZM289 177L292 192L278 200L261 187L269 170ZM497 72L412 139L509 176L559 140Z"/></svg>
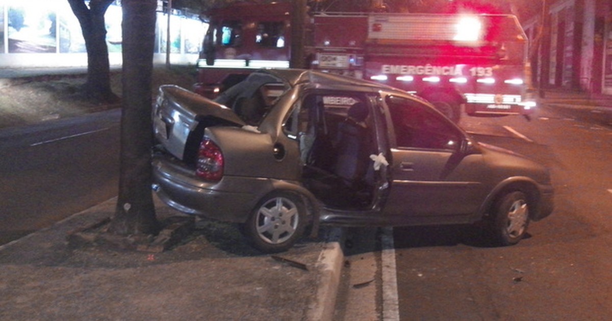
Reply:
<svg viewBox="0 0 612 321"><path fill-rule="evenodd" d="M290 6L211 11L196 92L211 97L255 68L289 67ZM528 39L513 15L315 12L305 34L308 67L412 92L455 122L463 106L471 116L535 108Z"/></svg>

